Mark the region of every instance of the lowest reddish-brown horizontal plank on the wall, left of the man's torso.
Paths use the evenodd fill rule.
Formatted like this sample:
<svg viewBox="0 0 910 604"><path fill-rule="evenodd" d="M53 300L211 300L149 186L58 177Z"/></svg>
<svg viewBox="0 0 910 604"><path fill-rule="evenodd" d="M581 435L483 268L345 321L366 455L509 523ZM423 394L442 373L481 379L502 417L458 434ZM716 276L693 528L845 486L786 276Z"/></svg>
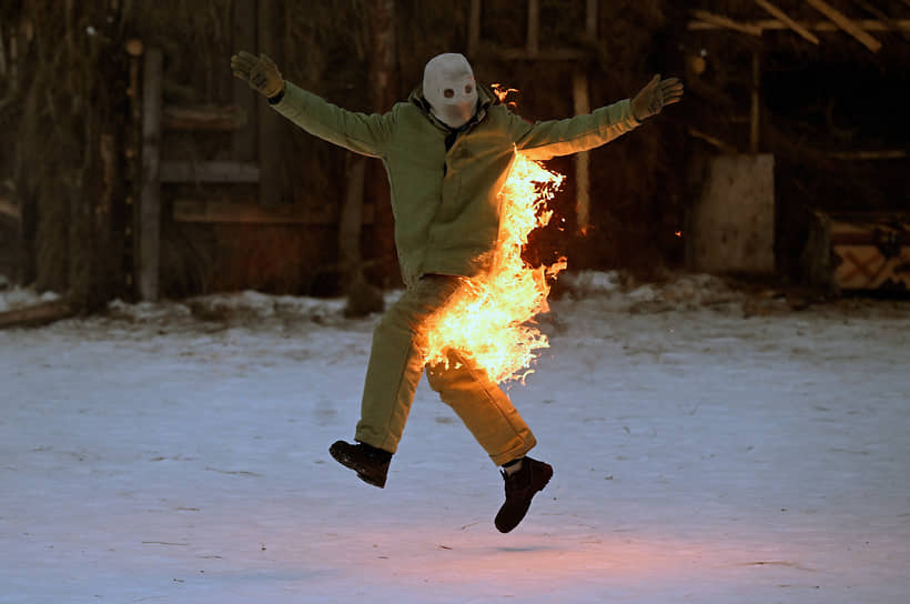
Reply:
<svg viewBox="0 0 910 604"><path fill-rule="evenodd" d="M174 200L173 219L175 222L219 222L250 224L338 224L341 211L334 205L322 205L316 209L300 204L283 203L267 208L254 199L176 199ZM362 222L372 224L375 208L364 204Z"/></svg>

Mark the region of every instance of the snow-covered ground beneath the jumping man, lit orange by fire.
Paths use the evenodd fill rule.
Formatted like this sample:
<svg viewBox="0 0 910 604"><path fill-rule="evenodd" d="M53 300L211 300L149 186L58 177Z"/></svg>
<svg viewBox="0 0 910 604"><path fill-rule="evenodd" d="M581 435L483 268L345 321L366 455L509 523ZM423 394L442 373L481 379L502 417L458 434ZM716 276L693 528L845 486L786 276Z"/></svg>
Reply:
<svg viewBox="0 0 910 604"><path fill-rule="evenodd" d="M0 331L0 602L910 602L910 303L574 281L509 390L556 474L507 535L425 382L385 490L331 460L377 321L340 300Z"/></svg>

